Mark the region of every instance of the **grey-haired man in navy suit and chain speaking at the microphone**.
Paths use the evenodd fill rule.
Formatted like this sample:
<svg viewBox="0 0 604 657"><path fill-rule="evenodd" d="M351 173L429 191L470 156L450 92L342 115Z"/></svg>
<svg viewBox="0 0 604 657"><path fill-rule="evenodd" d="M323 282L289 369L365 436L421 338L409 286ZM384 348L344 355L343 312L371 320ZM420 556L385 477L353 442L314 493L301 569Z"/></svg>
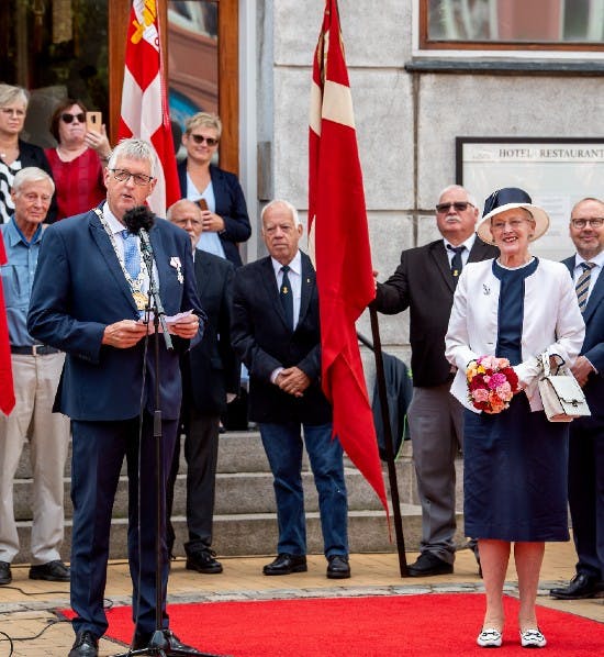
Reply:
<svg viewBox="0 0 604 657"><path fill-rule="evenodd" d="M76 642L69 657L96 657L98 639L108 627L103 592L111 510L124 456L136 623L133 647L147 646L156 628L157 464L153 413L161 411L165 481L180 411L179 352L198 337L203 324L190 240L169 222L156 220L148 241L155 254L153 268L161 302L166 315L183 313L170 324L174 350L169 352L164 336L158 336L160 408L156 409L155 337L146 344L144 338L153 327L141 321L149 288L141 257L143 233L128 233L124 216L145 203L155 187L158 166L147 142L121 142L104 171L107 202L45 232L32 290L30 333L67 354L55 409L71 417L74 438L71 606L76 612ZM165 536L161 563L164 637L169 649L178 650L182 644L167 630Z"/></svg>

